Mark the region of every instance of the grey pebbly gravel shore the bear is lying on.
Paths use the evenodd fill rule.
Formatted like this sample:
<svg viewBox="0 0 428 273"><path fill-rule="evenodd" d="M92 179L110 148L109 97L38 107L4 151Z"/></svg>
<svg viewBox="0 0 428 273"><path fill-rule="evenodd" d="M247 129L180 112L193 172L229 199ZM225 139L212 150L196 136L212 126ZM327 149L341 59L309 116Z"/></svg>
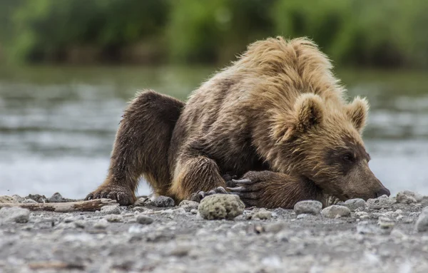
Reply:
<svg viewBox="0 0 428 273"><path fill-rule="evenodd" d="M31 197L0 202L63 201ZM216 197L96 212L4 207L0 272L428 272L428 197L414 192L322 210L317 201L244 210L233 198L214 217L228 220L205 220L213 214L202 210L223 209Z"/></svg>

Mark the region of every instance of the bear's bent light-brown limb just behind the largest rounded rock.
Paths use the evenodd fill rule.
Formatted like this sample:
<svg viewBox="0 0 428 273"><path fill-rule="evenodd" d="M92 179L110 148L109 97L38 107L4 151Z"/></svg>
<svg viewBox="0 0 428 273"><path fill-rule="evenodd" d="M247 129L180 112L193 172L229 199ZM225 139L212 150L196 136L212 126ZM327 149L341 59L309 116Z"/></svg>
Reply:
<svg viewBox="0 0 428 273"><path fill-rule="evenodd" d="M224 190L226 183L220 175L217 163L202 155L196 157L181 155L173 176L170 194L177 200L189 199L198 192L202 195L205 195L205 192L226 193Z"/></svg>

